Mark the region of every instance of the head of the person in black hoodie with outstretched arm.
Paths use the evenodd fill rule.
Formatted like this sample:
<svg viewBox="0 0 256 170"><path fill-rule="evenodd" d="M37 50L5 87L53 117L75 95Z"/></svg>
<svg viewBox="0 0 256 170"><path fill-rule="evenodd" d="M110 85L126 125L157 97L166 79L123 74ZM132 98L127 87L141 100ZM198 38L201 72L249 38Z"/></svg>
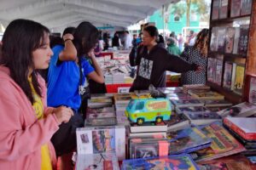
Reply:
<svg viewBox="0 0 256 170"><path fill-rule="evenodd" d="M159 33L155 26L146 26L143 30L143 45L148 46L158 41Z"/></svg>

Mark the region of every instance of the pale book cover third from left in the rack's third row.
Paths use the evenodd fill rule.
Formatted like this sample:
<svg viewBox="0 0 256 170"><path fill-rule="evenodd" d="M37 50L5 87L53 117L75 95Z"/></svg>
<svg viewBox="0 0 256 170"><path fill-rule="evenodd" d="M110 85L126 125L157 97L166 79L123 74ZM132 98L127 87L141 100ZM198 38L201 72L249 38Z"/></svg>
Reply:
<svg viewBox="0 0 256 170"><path fill-rule="evenodd" d="M223 78L223 87L224 88L231 89L232 70L233 70L233 63L225 62L225 65L224 65L224 78Z"/></svg>

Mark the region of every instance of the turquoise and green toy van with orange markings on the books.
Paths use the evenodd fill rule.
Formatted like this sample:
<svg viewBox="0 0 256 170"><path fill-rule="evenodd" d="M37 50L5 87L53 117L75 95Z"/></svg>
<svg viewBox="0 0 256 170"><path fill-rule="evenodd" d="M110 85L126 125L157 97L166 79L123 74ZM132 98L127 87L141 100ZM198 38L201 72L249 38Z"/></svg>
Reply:
<svg viewBox="0 0 256 170"><path fill-rule="evenodd" d="M171 102L166 98L131 99L125 115L131 122L162 122L170 119Z"/></svg>

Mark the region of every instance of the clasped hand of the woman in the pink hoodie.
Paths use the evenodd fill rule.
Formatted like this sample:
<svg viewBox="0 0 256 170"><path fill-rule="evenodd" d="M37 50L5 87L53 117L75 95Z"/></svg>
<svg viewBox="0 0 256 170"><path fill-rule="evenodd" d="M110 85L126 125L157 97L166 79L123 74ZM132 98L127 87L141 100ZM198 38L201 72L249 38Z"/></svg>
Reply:
<svg viewBox="0 0 256 170"><path fill-rule="evenodd" d="M54 109L53 114L55 114L57 122L61 124L61 122L69 121L70 117L73 116L73 111L66 106L60 106Z"/></svg>

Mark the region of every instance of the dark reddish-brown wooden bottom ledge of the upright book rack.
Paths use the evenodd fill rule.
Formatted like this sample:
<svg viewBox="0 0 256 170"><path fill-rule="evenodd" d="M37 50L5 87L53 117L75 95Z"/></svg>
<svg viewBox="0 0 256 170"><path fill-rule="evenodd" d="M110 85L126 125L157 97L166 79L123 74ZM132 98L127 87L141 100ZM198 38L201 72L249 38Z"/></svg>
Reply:
<svg viewBox="0 0 256 170"><path fill-rule="evenodd" d="M229 100L234 105L239 104L242 101L241 95L235 94L234 92L218 86L213 82L207 82L207 86L210 86L214 91L217 91L219 94L223 94L225 96L225 99Z"/></svg>

